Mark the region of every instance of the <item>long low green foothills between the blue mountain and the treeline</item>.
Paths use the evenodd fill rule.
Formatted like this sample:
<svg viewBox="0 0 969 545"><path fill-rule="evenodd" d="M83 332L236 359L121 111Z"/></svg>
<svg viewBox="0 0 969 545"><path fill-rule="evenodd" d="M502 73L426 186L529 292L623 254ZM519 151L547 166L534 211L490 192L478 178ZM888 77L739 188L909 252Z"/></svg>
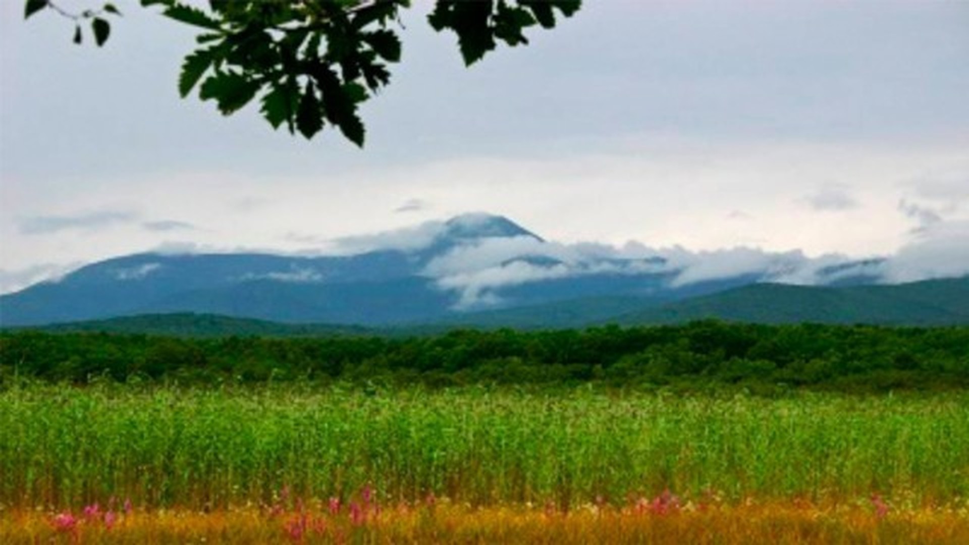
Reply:
<svg viewBox="0 0 969 545"><path fill-rule="evenodd" d="M285 324L214 314L178 312L52 324L47 332L105 332L176 337L330 337L416 335L454 328L568 329L617 324L672 325L718 319L787 324L969 326L969 277L892 286L812 287L752 284L666 305L604 297L470 312L421 325L362 328Z"/></svg>

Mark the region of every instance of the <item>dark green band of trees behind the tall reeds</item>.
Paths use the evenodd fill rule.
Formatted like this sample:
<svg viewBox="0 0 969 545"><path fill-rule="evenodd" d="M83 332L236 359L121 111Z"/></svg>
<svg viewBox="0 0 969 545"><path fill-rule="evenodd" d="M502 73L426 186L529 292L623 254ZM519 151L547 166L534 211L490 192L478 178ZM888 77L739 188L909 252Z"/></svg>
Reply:
<svg viewBox="0 0 969 545"><path fill-rule="evenodd" d="M969 387L969 328L685 326L433 337L183 338L0 334L0 384L15 380L304 380L447 387L471 384L706 388L754 392Z"/></svg>

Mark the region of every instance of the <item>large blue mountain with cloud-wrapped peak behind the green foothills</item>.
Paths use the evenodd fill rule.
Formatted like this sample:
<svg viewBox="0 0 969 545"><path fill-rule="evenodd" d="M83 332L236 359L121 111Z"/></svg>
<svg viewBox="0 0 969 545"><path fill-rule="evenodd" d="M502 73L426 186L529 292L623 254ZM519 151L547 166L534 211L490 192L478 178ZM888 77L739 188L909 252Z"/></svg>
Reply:
<svg viewBox="0 0 969 545"><path fill-rule="evenodd" d="M464 310L696 291L665 288L670 272L658 270L662 259L577 260L503 216L463 214L416 233L426 240L340 256L112 258L0 297L0 326L171 312L381 326Z"/></svg>

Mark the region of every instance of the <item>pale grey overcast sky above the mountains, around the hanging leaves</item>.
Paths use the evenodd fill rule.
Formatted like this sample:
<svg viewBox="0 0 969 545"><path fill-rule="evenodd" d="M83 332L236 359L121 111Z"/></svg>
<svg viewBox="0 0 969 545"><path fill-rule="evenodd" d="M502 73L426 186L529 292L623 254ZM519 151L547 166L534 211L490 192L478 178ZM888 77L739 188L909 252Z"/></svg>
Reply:
<svg viewBox="0 0 969 545"><path fill-rule="evenodd" d="M416 0L362 150L180 99L192 29L115 3L98 49L0 2L0 293L128 253L320 252L468 211L566 245L969 272L967 2L586 1L465 68Z"/></svg>

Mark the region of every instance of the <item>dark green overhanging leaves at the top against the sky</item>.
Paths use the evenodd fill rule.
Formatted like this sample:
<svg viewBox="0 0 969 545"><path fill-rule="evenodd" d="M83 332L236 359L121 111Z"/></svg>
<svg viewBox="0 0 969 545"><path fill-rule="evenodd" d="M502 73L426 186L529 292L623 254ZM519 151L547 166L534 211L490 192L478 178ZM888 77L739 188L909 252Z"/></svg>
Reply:
<svg viewBox="0 0 969 545"><path fill-rule="evenodd" d="M437 0L427 17L438 32L451 30L466 65L481 60L499 42L528 44L524 30L552 28L572 16L581 0ZM273 129L311 139L329 124L359 146L365 130L359 104L391 80L400 61L396 30L411 0L209 0L207 9L178 0L141 0L141 6L198 28L198 48L182 63L178 92L199 89L230 115L259 97ZM24 16L49 10L72 19L74 42L90 21L95 43L110 35L112 4L70 14L52 0L26 0Z"/></svg>

